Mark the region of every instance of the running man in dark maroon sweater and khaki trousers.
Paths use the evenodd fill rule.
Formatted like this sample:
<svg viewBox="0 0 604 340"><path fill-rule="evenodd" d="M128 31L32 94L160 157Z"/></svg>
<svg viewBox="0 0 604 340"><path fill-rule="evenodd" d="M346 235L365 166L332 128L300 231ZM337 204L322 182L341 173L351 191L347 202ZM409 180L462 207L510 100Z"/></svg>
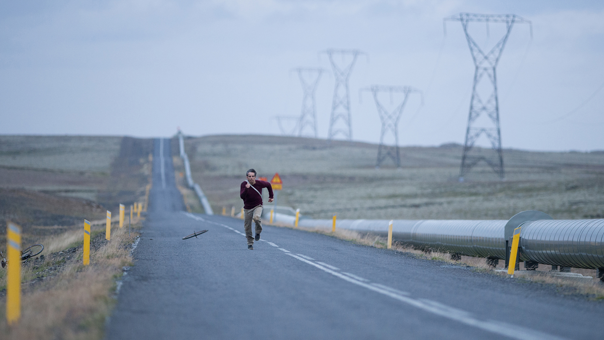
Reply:
<svg viewBox="0 0 604 340"><path fill-rule="evenodd" d="M262 188L268 189L268 201L272 202L272 186L268 181L256 180L256 171L249 169L245 173L247 180L241 183L241 191L239 197L243 200L243 228L245 229L245 237L248 239L248 249L254 249L254 240L260 240L262 232ZM256 236L252 237L252 220L256 224Z"/></svg>

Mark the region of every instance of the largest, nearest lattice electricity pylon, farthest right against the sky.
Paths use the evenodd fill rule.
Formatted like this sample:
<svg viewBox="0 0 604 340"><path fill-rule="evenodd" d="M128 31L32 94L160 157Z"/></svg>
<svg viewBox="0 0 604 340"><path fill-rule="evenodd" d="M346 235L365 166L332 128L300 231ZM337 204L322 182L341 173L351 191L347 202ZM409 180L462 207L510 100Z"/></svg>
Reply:
<svg viewBox="0 0 604 340"><path fill-rule="evenodd" d="M461 155L461 167L459 171L459 181L463 181L464 175L472 169L478 162L484 160L500 179L504 179L503 154L501 153L501 129L499 125L499 98L497 95L497 76L496 67L501 57L501 52L506 46L507 38L510 36L512 27L515 23L532 24L530 21L513 14L506 15L484 15L473 13L459 13L458 15L445 18L445 21L459 21L466 34L467 45L470 47L472 59L474 59L474 85L472 85L472 99L470 101L470 111L467 117L466 139L463 144L463 154ZM476 41L472 39L468 31L470 22L486 22L487 34L489 23L506 24L506 33L490 51L483 51ZM487 82L483 84L482 81ZM486 100L485 100L486 99ZM481 114L486 114L490 122L478 124L477 118ZM495 157L486 157L482 154L472 153L474 143L484 134L491 143Z"/></svg>

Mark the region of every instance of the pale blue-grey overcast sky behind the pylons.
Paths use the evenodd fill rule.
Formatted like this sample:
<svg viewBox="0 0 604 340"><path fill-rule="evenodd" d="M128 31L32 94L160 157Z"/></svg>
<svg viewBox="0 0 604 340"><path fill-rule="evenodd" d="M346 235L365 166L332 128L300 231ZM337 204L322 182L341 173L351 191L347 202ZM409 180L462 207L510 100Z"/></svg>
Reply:
<svg viewBox="0 0 604 340"><path fill-rule="evenodd" d="M0 133L280 134L274 117L300 114L292 68L323 67L325 138L334 77L319 52L358 48L368 57L350 76L355 140L379 141L359 89L381 84L424 94L403 111L401 145L463 143L474 64L460 22L443 34L460 12L532 21L532 40L529 25L513 26L498 65L504 148L604 149L602 1L4 0ZM492 45L503 27L472 34Z"/></svg>

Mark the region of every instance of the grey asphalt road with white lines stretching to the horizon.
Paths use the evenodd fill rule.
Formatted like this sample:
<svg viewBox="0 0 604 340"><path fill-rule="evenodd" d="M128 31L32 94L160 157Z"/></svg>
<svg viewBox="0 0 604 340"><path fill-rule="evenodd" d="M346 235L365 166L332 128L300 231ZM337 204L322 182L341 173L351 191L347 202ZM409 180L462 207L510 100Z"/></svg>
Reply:
<svg viewBox="0 0 604 340"><path fill-rule="evenodd" d="M604 338L604 302L549 286L280 227L248 250L242 220L184 212L164 142L108 339Z"/></svg>

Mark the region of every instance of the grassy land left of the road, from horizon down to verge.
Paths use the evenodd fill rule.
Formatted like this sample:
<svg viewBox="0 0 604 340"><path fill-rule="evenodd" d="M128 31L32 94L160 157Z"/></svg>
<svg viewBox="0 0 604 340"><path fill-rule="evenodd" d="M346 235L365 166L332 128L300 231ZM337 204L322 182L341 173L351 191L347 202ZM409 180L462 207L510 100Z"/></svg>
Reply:
<svg viewBox="0 0 604 340"><path fill-rule="evenodd" d="M22 318L2 339L100 339L116 280L132 264L137 235L117 227L118 204L144 202L152 140L97 136L0 136L0 251L5 221L22 226L22 244L45 246L24 263ZM112 211L111 241L104 217ZM91 265L82 266L83 220L92 221ZM135 218L135 229L141 221ZM10 264L9 264L10 265ZM0 304L5 303L0 269Z"/></svg>

